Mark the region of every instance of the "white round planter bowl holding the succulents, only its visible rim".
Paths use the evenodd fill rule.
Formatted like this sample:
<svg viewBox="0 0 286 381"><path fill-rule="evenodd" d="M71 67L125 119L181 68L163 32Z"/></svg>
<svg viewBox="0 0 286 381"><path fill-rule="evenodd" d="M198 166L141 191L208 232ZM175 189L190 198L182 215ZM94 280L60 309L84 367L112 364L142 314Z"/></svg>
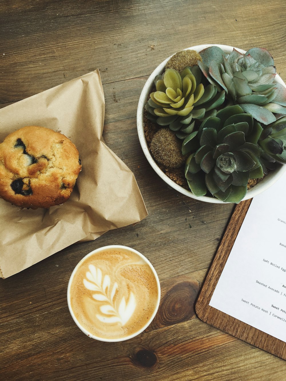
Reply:
<svg viewBox="0 0 286 381"><path fill-rule="evenodd" d="M217 44L191 46L191 48L188 48L188 49L193 49L193 50L196 50L197 52L200 52L202 49L207 48L208 46L213 46L213 45L219 46L225 53L231 53L231 51L233 50L233 46L217 45ZM240 51L241 53L246 53L245 50L241 50L239 48L235 48L235 49ZM154 79L156 75L162 74L162 72L164 72L165 64L170 59L170 57L165 59L165 61L163 61L159 66L156 67L156 69L153 71L153 73L150 75L150 77L146 81L139 98L138 109L137 109L137 131L138 131L138 137L139 137L141 147L151 167L161 177L161 179L163 179L170 187L174 188L176 191L188 197L191 197L199 201L212 202L212 203L224 203L223 201L216 199L215 197L209 197L209 196L197 197L191 191L179 186L174 181L172 181L163 171L161 171L161 169L157 166L155 160L153 159L152 155L150 154L150 151L145 139L145 134L144 134L144 121L143 121L144 107L145 107L145 103L147 102L148 96L151 92L151 88L154 85ZM285 83L282 81L282 79L279 77L278 74L276 74L275 80L276 82L279 82L286 87ZM270 173L267 174L267 176L265 176L264 179L262 179L258 184L256 184L253 188L247 191L247 194L243 200L251 199L257 194L265 191L267 188L272 186L272 184L274 184L283 175L285 171L286 171L286 165L279 165L279 167L275 171L270 171Z"/></svg>

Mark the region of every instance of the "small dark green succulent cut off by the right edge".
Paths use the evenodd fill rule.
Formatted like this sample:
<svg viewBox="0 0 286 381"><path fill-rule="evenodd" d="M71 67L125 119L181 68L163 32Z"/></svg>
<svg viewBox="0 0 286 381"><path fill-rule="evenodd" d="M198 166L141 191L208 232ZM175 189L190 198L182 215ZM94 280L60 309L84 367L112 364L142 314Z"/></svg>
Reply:
<svg viewBox="0 0 286 381"><path fill-rule="evenodd" d="M264 157L270 161L286 164L286 116L264 128L259 141Z"/></svg>

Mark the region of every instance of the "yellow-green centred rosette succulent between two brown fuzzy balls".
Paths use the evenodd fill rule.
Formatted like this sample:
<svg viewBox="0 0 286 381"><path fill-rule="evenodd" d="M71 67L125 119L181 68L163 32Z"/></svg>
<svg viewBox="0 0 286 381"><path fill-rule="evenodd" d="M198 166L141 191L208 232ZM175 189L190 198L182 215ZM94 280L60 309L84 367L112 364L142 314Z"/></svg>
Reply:
<svg viewBox="0 0 286 381"><path fill-rule="evenodd" d="M215 115L225 100L225 91L217 86L201 83L198 66L185 67L180 73L166 69L157 75L156 91L145 105L147 117L160 126L169 126L178 138L185 139L194 130L194 119L204 120Z"/></svg>

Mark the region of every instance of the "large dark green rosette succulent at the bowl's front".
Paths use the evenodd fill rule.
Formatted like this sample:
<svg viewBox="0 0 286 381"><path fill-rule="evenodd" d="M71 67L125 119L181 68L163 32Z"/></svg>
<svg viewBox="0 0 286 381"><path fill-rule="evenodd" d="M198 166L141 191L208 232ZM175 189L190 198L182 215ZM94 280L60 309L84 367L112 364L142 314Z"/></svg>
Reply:
<svg viewBox="0 0 286 381"><path fill-rule="evenodd" d="M204 120L182 147L183 153L191 152L185 177L193 194L210 192L224 202L240 202L248 180L267 172L267 158L261 157L263 149L257 144L262 130L239 105L225 107Z"/></svg>

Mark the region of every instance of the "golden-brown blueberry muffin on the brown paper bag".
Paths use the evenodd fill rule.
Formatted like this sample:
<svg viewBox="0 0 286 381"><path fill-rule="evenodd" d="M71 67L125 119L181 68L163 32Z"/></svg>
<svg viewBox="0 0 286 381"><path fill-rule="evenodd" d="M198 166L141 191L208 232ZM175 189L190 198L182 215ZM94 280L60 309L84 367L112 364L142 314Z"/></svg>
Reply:
<svg viewBox="0 0 286 381"><path fill-rule="evenodd" d="M66 202L81 170L76 146L63 134L27 126L0 144L0 197L21 208Z"/></svg>

